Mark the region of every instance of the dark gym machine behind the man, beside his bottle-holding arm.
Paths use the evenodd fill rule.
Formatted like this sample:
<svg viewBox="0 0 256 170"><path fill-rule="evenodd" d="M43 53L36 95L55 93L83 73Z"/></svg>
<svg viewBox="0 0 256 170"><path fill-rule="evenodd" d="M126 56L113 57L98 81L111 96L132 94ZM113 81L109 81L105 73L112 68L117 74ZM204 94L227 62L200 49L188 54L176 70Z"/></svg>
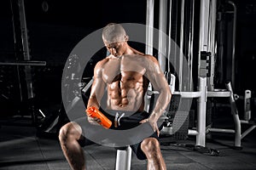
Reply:
<svg viewBox="0 0 256 170"><path fill-rule="evenodd" d="M83 96L80 95L79 90L82 92L81 94L85 94L93 82L93 77L88 83L79 82L77 75L79 74L79 71L81 71L81 66L77 54L71 54L68 56L67 60L69 62L67 71L63 73L65 83L62 89L67 108L64 108L63 102L61 102L61 105L58 106L58 110L53 111L50 116L46 116L44 122L38 126L38 136L44 135L56 137L61 126L70 121L67 117L67 113L69 113L69 111L79 103L79 100L83 98ZM87 80L89 78L84 79ZM84 97L86 96L84 95Z"/></svg>

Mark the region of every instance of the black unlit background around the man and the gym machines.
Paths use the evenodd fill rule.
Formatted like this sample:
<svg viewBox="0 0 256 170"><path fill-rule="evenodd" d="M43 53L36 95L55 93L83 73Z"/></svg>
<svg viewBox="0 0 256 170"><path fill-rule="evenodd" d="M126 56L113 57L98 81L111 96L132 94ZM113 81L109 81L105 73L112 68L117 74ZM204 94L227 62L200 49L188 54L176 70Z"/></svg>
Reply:
<svg viewBox="0 0 256 170"><path fill-rule="evenodd" d="M157 2L157 1L156 1ZM199 4L200 1L195 1ZM225 1L218 1L222 4ZM253 0L236 0L236 93L243 95L244 90L251 89L255 96L256 83L256 3ZM48 8L45 8L45 3ZM25 0L26 25L30 42L32 60L46 61L46 66L34 66L33 81L36 101L39 108L49 108L61 104L61 76L63 67L75 45L90 32L102 28L109 22L146 23L146 0L94 0L94 1L61 1L61 0ZM157 4L155 4L157 8ZM196 9L199 9L198 6ZM155 13L158 10L155 9ZM198 11L197 11L198 13ZM158 16L155 17L158 27ZM230 18L226 17L227 25ZM199 19L195 19L199 23ZM221 81L230 78L230 28L224 30L225 54L224 71ZM195 41L198 41L195 38ZM196 42L195 42L196 44ZM104 57L102 49L92 56L93 66ZM197 52L195 52L197 54ZM217 56L218 58L218 56ZM10 1L0 4L0 60L15 60L14 30ZM20 112L20 88L17 85L15 66L0 65L1 98L0 116L24 114ZM87 75L91 77L92 75ZM220 86L223 84L220 84ZM254 100L253 100L254 101ZM22 104L21 104L22 105Z"/></svg>

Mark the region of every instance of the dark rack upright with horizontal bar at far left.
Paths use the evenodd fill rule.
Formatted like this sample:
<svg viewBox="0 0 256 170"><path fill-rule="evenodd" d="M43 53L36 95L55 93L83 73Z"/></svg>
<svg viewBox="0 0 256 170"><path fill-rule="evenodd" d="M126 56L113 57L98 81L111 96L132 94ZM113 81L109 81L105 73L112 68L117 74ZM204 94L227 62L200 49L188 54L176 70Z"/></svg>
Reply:
<svg viewBox="0 0 256 170"><path fill-rule="evenodd" d="M25 109L26 112L30 112L32 125L37 126L38 117L35 113L34 105L35 94L33 90L32 66L44 66L46 62L33 61L30 55L24 0L11 0L10 6L14 28L15 60L0 62L0 65L14 66L18 82L17 88L19 88L17 96L20 98L18 101L20 112ZM22 117L24 116L22 115Z"/></svg>

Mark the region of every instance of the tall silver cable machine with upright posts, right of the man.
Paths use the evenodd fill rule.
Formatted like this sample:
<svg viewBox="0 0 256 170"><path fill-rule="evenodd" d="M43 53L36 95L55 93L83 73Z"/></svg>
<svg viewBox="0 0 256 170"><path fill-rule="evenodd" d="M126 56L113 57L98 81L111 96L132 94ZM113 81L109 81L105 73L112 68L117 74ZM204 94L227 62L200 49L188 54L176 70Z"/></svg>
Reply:
<svg viewBox="0 0 256 170"><path fill-rule="evenodd" d="M247 133L251 132L255 128L255 124L252 124L251 127L249 127L244 133L241 133L241 123L249 123L249 117L250 117L250 111L248 111L248 104L245 101L245 116L247 117L246 120L240 120L240 117L238 116L238 111L236 108L236 103L234 99L234 92L232 90L232 85L235 82L235 73L233 71L231 82L226 82L225 87L226 89L218 89L214 87L214 67L215 67L215 60L216 60L216 19L217 19L217 0L201 0L200 4L200 23L199 23L199 47L198 47L198 68L197 68L197 77L198 77L198 85L196 91L192 89L190 86L192 83L192 64L193 64L193 42L195 41L195 35L194 35L194 22L195 22L195 1L192 1L192 4L190 4L191 7L191 14L189 19L189 50L188 53L185 53L184 55L187 56L188 65L184 65L185 62L183 60L183 48L185 42L184 40L184 3L185 1L180 1L180 3L177 3L177 1L169 1L170 8L169 8L169 25L175 25L177 27L177 22L172 23L172 10L173 8L172 4L174 2L178 5L180 5L180 34L179 34L179 41L175 39L176 42L178 42L179 51L174 52L174 59L170 58L170 51L168 54L166 54L166 44L171 44L170 42L166 42L166 40L163 38L162 34L166 33L166 22L164 20L167 20L167 3L166 1L160 1L160 35L159 35L159 60L160 65L163 71L166 71L166 58L168 58L168 62L172 61L172 64L174 65L175 69L177 70L177 79L179 80L179 88L178 90L175 90L172 94L173 95L180 95L182 99L197 99L197 126L193 129L188 129L188 135L195 135L196 146L206 146L206 134L209 132L218 132L218 133L235 133L235 147L241 148L241 139L244 138ZM234 7L234 28L233 28L233 48L232 48L232 70L234 70L234 58L235 58L235 43L236 43L236 4L228 1L230 5ZM176 8L177 11L177 8ZM154 1L148 0L148 6L147 6L147 42L146 44L153 44L154 37L151 37L153 35L152 27L154 26ZM169 32L172 32L171 30L172 26L169 26ZM177 29L177 28L176 28ZM169 33L169 39L171 39L172 35ZM177 38L177 34L175 35L175 38ZM146 52L153 51L153 46L148 45L146 47ZM172 48L169 47L169 50ZM185 51L185 50L184 50ZM187 52L187 51L186 51ZM167 55L167 57L166 57ZM173 55L171 55L173 56ZM178 57L177 57L178 56ZM187 72L188 70L189 73ZM187 73L187 74L185 74ZM184 75L187 75L188 80ZM186 80L185 80L186 79ZM190 83L188 83L190 82ZM232 85L231 85L232 83ZM246 94L246 96L249 96L249 93ZM232 112L232 116L235 122L235 130L232 129L221 129L221 128L213 128L211 126L207 127L207 100L210 98L228 98L230 99L230 108ZM209 101L209 100L208 100ZM248 100L247 100L248 101ZM149 103L148 103L149 105ZM176 113L180 114L179 112ZM183 116L185 117L185 116ZM184 122L184 121L183 121ZM173 134L173 128L163 128L164 133L170 133Z"/></svg>

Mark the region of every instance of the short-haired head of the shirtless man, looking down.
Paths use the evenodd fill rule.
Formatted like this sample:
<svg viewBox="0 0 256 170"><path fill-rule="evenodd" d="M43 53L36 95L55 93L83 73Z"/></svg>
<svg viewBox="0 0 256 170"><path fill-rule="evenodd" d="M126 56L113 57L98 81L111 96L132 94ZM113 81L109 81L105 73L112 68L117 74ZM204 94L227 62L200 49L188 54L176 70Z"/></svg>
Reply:
<svg viewBox="0 0 256 170"><path fill-rule="evenodd" d="M128 36L123 26L110 23L103 28L102 39L109 53L119 56L125 51L125 42L128 41Z"/></svg>

